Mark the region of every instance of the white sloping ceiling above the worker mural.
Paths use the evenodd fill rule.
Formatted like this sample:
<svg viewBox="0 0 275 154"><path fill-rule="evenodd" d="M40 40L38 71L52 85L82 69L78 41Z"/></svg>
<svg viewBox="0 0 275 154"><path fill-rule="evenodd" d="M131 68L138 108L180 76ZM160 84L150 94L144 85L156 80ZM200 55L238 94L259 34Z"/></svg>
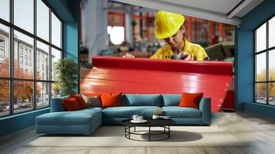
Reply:
<svg viewBox="0 0 275 154"><path fill-rule="evenodd" d="M239 25L241 17L259 5L263 0L115 0L122 3L140 5L144 8L166 10L199 17L221 23ZM231 14L232 10L238 3Z"/></svg>

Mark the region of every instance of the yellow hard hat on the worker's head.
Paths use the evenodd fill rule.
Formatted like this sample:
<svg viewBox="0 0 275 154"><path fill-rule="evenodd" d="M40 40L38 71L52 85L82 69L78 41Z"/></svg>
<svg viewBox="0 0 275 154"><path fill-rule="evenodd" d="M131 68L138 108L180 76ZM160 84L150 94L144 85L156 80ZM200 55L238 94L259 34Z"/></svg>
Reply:
<svg viewBox="0 0 275 154"><path fill-rule="evenodd" d="M158 11L155 17L155 37L165 39L176 34L181 25L184 23L184 15Z"/></svg>

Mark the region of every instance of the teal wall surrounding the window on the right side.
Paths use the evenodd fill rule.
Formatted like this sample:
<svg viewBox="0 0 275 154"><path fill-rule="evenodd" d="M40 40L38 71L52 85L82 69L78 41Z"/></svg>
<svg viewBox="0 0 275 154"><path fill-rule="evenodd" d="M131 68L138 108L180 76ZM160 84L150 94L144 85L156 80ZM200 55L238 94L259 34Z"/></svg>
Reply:
<svg viewBox="0 0 275 154"><path fill-rule="evenodd" d="M236 30L236 100L237 110L274 117L274 107L254 103L254 30L275 15L275 0L265 0L241 19ZM247 104L250 103L250 104ZM266 106L266 105L265 105ZM268 109L267 109L268 108ZM261 111L260 111L261 110Z"/></svg>

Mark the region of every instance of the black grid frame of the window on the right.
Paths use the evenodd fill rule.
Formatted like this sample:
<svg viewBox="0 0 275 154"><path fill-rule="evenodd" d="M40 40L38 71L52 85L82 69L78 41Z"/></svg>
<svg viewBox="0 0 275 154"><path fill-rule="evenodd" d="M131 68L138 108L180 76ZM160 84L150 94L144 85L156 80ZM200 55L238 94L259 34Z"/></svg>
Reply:
<svg viewBox="0 0 275 154"><path fill-rule="evenodd" d="M268 19L266 19L263 23L261 23L258 27L256 27L253 32L254 32L254 103L256 104L263 104L261 102L257 102L257 91L256 91L256 84L257 83L265 83L265 105L269 105L274 107L275 104L270 104L270 83L275 83L275 80L270 80L270 67L269 67L269 63L270 63L270 52L272 52L272 50L275 50L275 45L273 47L269 47L269 21L270 19L275 18L275 14L273 14L271 17L269 17ZM259 28L261 28L262 25L266 24L266 44L265 44L265 50L261 50L259 52L256 52L256 30L259 30ZM275 38L274 38L275 39ZM256 56L259 54L263 54L265 53L265 60L266 60L266 72L265 72L265 81L256 81L256 64L257 64L257 59Z"/></svg>

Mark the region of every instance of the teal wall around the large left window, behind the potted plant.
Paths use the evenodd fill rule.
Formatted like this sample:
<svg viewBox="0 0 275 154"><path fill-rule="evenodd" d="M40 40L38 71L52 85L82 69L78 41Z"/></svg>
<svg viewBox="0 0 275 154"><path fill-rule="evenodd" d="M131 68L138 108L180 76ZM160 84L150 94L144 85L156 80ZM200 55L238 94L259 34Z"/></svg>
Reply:
<svg viewBox="0 0 275 154"><path fill-rule="evenodd" d="M79 62L79 1L78 0L46 0L63 21L63 56L72 57ZM78 63L79 64L79 63ZM79 66L79 65L78 65ZM79 87L79 67L78 67ZM79 88L76 90L79 91ZM49 113L50 108L30 111L0 118L0 137L8 135L35 124L38 115Z"/></svg>

